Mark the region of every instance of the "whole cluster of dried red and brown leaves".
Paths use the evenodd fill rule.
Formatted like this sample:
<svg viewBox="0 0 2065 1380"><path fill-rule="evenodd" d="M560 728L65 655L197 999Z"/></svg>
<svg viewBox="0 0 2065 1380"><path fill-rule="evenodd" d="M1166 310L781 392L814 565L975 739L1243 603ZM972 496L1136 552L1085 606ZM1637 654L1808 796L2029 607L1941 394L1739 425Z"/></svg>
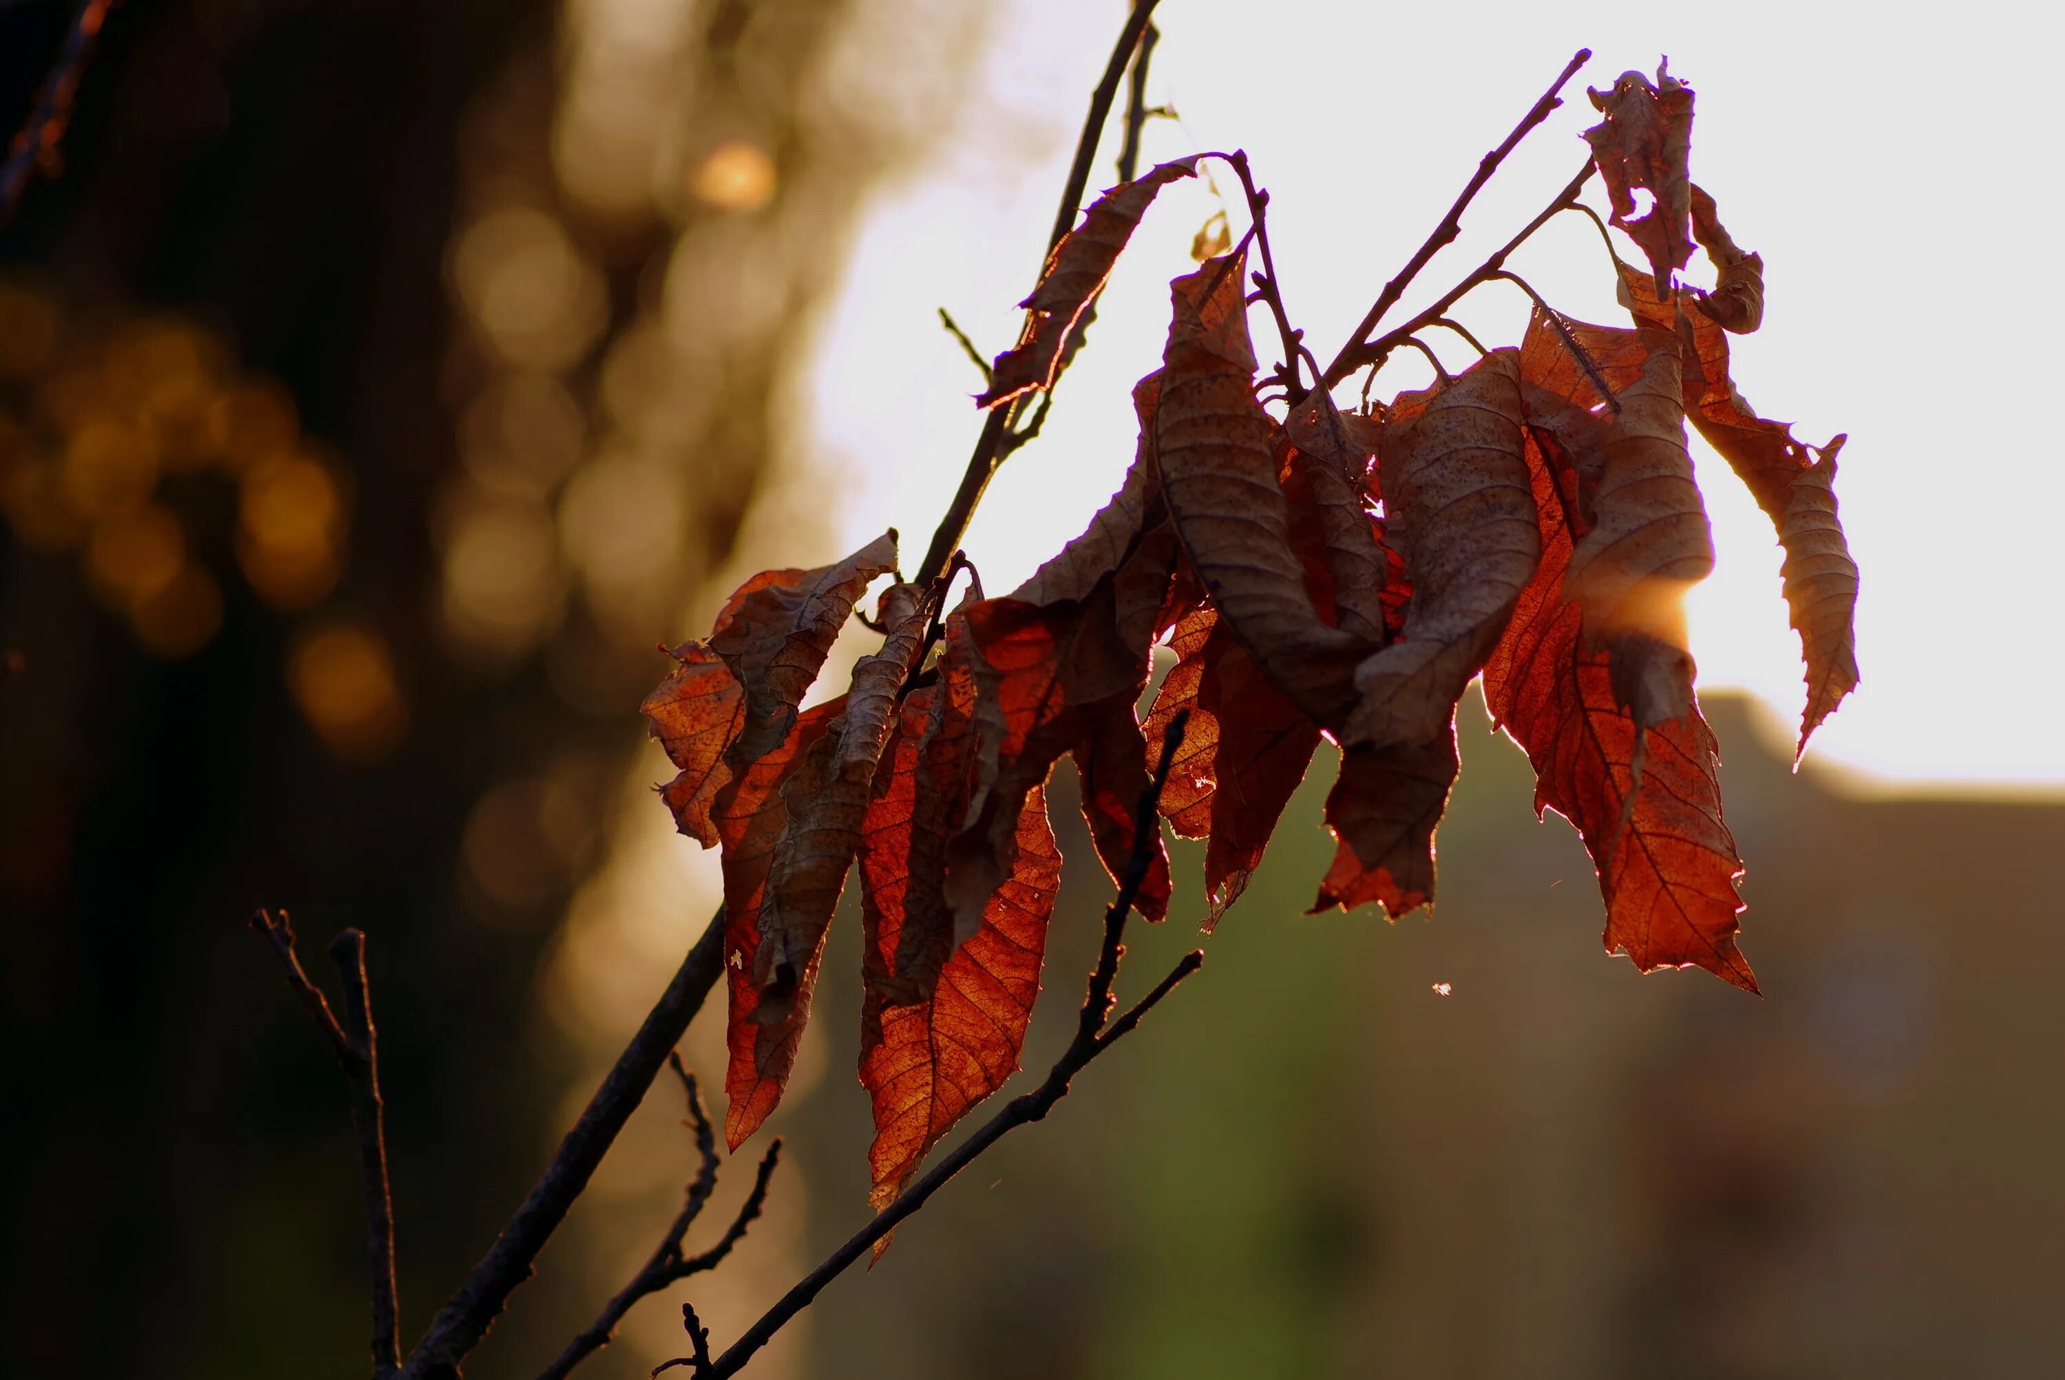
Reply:
<svg viewBox="0 0 2065 1380"><path fill-rule="evenodd" d="M1363 413L1295 390L1276 417L1258 400L1243 239L1171 285L1163 365L1134 390L1125 483L1026 584L977 588L952 611L954 571L890 584L880 650L809 710L834 635L896 569L894 532L834 565L756 576L704 642L675 648L644 712L679 767L665 800L681 831L723 848L733 1145L781 1099L859 862L861 1083L888 1203L1018 1066L1061 870L1053 765L1074 757L1117 877L1148 745L1181 710L1158 804L1179 835L1206 840L1206 926L1247 885L1322 736L1340 747L1326 800L1338 850L1313 910L1427 903L1456 703L1481 675L1534 765L1536 807L1584 835L1609 951L1755 990L1685 637L1685 590L1714 559L1685 423L1778 528L1807 660L1803 747L1856 685L1856 565L1832 491L1842 437L1797 441L1728 380L1726 332L1757 328L1764 264L1687 177L1691 91L1629 72L1592 99L1613 221L1648 258L1648 272L1619 264L1629 326L1536 307L1518 347L1433 388ZM1088 208L983 406L1051 388L1140 217L1198 161ZM1652 208L1633 219L1638 190ZM1718 274L1710 293L1675 281L1693 241ZM1295 380L1286 365L1274 377ZM1142 724L1165 639L1177 660ZM1169 862L1161 837L1148 848L1136 906L1161 920Z"/></svg>

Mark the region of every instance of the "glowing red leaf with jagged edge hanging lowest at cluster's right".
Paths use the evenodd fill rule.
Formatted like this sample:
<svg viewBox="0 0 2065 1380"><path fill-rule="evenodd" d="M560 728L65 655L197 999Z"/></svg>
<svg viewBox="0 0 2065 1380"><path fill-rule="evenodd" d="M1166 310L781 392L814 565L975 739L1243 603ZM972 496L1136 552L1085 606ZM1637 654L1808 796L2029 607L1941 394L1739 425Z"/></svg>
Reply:
<svg viewBox="0 0 2065 1380"><path fill-rule="evenodd" d="M1574 330L1588 353L1613 342L1611 334L1588 338L1596 328ZM1557 375L1551 351L1567 347L1547 326L1530 330L1522 347L1528 382ZM1526 367L1530 355L1540 371ZM1596 351L1594 363L1617 386L1613 369L1629 365L1600 355L1607 351ZM1592 854L1607 899L1607 951L1623 949L1642 972L1695 963L1753 992L1755 978L1735 939L1743 862L1720 815L1714 734L1697 703L1687 718L1648 732L1619 705L1609 654L1584 648L1584 611L1563 598L1571 547L1582 536L1574 460L1540 425L1528 427L1526 456L1543 559L1485 664L1485 701L1534 765L1536 813L1553 809L1569 819ZM1640 790L1638 743L1646 755Z"/></svg>

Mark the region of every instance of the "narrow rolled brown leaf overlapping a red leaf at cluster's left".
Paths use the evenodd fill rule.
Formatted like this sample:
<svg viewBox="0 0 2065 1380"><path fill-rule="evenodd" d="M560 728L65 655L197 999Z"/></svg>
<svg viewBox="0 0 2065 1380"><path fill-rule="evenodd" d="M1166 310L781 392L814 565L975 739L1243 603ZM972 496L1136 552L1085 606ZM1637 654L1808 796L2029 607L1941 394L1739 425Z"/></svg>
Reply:
<svg viewBox="0 0 2065 1380"><path fill-rule="evenodd" d="M896 722L896 695L925 648L929 619L931 602L919 598L917 586L890 586L880 609L888 629L882 650L855 664L847 712L783 784L787 821L774 842L754 959L764 1007L772 1005L768 992L793 988L793 976L824 945L824 926L861 846L861 819Z"/></svg>

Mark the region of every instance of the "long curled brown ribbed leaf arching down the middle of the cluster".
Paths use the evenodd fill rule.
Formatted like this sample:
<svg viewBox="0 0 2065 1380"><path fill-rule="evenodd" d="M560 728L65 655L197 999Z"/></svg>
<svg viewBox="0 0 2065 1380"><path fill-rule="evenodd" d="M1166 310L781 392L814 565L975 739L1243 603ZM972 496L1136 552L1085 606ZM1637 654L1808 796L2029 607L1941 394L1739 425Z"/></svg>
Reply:
<svg viewBox="0 0 2065 1380"><path fill-rule="evenodd" d="M1154 462L1192 567L1233 635L1307 718L1338 726L1367 642L1328 627L1305 588L1276 472L1276 423L1253 396L1241 256L1171 283Z"/></svg>

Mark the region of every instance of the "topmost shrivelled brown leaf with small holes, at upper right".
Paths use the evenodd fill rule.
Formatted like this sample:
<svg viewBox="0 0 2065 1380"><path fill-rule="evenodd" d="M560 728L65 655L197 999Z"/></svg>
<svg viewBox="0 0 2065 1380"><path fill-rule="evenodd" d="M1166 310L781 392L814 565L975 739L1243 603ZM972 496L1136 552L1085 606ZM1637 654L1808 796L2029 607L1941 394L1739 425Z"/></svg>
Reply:
<svg viewBox="0 0 2065 1380"><path fill-rule="evenodd" d="M1671 274L1691 258L1691 87L1671 76L1669 60L1656 85L1642 72L1621 72L1613 91L1592 91L1592 105L1607 118L1584 132L1607 184L1613 223L1642 245L1656 278L1656 295L1671 295ZM1635 217L1635 190L1654 198Z"/></svg>

